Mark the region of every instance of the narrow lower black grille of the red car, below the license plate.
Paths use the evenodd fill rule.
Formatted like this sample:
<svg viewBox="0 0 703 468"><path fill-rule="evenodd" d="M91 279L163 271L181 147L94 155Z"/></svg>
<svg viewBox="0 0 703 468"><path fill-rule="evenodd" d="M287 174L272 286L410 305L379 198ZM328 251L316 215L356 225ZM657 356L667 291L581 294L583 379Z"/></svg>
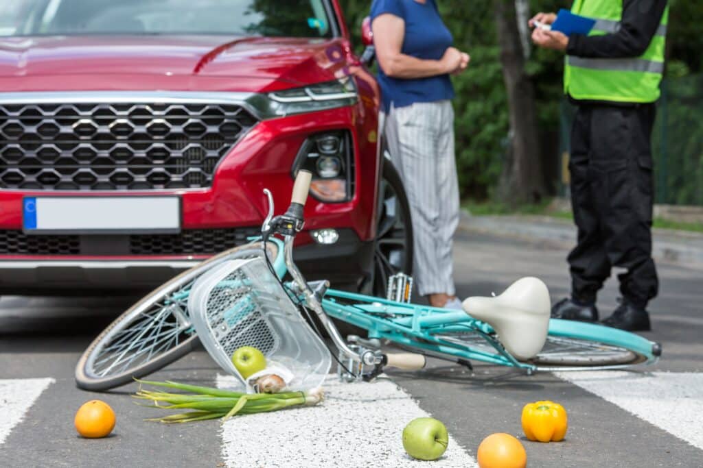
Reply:
<svg viewBox="0 0 703 468"><path fill-rule="evenodd" d="M0 255L212 255L241 246L260 227L186 229L180 234L53 235L0 230Z"/></svg>

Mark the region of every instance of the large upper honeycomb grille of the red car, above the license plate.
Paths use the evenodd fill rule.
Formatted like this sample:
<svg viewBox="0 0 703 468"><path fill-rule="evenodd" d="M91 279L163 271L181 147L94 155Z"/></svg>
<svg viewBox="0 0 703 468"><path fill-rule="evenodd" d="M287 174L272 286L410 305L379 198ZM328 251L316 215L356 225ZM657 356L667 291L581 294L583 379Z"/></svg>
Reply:
<svg viewBox="0 0 703 468"><path fill-rule="evenodd" d="M0 104L0 189L209 187L256 123L235 104Z"/></svg>

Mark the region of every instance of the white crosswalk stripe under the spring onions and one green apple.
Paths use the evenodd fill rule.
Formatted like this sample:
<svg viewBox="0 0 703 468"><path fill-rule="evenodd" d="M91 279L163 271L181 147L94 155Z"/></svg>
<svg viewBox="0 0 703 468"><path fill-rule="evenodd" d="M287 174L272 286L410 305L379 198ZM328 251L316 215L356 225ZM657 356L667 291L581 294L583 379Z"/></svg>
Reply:
<svg viewBox="0 0 703 468"><path fill-rule="evenodd" d="M234 377L219 376L221 388ZM390 380L370 384L325 382L319 406L233 417L222 427L222 457L228 467L413 467L401 434L415 417L428 414ZM449 436L449 447L432 467L477 467Z"/></svg>

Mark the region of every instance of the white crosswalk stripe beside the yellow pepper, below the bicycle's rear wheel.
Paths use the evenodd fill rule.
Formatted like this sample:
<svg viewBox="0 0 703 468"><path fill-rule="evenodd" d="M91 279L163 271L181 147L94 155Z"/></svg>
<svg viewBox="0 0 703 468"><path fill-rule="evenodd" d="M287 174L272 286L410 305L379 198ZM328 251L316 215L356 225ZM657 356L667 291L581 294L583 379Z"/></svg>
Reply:
<svg viewBox="0 0 703 468"><path fill-rule="evenodd" d="M556 373L703 450L703 373Z"/></svg>

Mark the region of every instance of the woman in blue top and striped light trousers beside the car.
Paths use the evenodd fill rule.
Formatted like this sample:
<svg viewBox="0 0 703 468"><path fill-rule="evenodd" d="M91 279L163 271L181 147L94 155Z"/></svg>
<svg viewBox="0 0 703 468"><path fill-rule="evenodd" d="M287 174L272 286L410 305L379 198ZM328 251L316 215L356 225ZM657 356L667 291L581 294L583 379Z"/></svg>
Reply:
<svg viewBox="0 0 703 468"><path fill-rule="evenodd" d="M434 307L461 308L451 244L459 222L450 74L469 55L453 48L434 0L373 0L383 133L403 179L413 218L413 276Z"/></svg>

